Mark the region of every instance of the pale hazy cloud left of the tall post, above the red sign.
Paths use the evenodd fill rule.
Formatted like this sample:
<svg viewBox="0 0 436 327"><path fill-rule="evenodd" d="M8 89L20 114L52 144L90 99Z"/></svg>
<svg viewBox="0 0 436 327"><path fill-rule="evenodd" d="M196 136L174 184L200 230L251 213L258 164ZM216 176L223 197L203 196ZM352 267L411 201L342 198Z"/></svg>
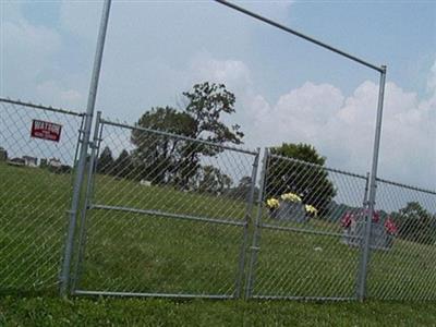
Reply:
<svg viewBox="0 0 436 327"><path fill-rule="evenodd" d="M5 7L8 19L1 24L3 96L78 108L84 102L81 93L64 86L60 78L51 77L58 70L57 57L62 50L62 35L44 25L31 24L19 8Z"/></svg>

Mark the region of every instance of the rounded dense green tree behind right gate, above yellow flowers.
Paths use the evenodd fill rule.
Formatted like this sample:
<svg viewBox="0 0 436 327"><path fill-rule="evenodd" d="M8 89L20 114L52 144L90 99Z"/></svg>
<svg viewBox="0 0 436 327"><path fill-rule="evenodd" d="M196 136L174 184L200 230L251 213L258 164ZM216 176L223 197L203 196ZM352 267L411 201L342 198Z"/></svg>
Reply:
<svg viewBox="0 0 436 327"><path fill-rule="evenodd" d="M328 180L328 172L323 169L326 159L315 147L302 143L283 143L281 146L272 147L270 152L272 155L296 160L269 157L266 195L278 197L287 192L299 194L304 204L316 207L320 216L327 216L336 190Z"/></svg>

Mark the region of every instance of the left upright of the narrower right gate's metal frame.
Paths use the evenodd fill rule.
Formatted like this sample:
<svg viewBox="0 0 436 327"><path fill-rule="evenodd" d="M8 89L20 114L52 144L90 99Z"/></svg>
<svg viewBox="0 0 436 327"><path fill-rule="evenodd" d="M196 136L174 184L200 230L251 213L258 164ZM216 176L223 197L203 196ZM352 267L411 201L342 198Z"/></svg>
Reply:
<svg viewBox="0 0 436 327"><path fill-rule="evenodd" d="M261 241L261 223L262 223L262 207L264 201L264 191L265 191L265 182L266 182L266 174L267 174L267 165L268 165L268 155L269 149L265 148L264 158L262 159L262 172L261 172L261 185L259 185L259 194L258 194L258 203L257 203L257 215L256 215L256 222L254 225L253 231L253 242L251 250L251 258L250 258L250 266L249 266L249 278L246 280L246 290L245 290L245 299L250 299L252 295L253 282L255 278L255 265L257 261L257 252L259 250L259 241Z"/></svg>

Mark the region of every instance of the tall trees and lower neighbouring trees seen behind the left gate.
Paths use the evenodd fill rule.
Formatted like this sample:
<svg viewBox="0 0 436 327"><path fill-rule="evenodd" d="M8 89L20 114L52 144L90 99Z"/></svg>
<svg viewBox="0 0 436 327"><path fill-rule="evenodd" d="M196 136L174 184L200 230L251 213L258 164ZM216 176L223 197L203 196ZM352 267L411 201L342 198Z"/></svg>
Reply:
<svg viewBox="0 0 436 327"><path fill-rule="evenodd" d="M174 185L185 191L214 194L243 193L251 183L243 177L237 185L229 174L218 167L204 164L204 158L217 157L223 144L242 144L244 134L238 124L227 125L226 114L235 112L234 95L223 84L202 83L183 93L185 106L175 109L169 106L146 111L136 122L138 128L164 131L204 140L211 144L141 129L131 132L133 149L123 149L113 158L105 147L98 158L97 171L118 178L146 180L156 185ZM250 180L250 183L249 183Z"/></svg>

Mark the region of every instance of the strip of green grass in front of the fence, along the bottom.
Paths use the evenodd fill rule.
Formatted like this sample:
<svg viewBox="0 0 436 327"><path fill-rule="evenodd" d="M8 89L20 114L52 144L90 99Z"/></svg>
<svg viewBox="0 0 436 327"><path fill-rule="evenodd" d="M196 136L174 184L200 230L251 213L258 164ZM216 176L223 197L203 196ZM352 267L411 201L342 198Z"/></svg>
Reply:
<svg viewBox="0 0 436 327"><path fill-rule="evenodd" d="M429 303L0 298L1 326L436 326Z"/></svg>

